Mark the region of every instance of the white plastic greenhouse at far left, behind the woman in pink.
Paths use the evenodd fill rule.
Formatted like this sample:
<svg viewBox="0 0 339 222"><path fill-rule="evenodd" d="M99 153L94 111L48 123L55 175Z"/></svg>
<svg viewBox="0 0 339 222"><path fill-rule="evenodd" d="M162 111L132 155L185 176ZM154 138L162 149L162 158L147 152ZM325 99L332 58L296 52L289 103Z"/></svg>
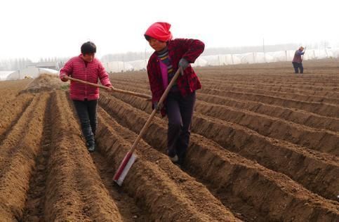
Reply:
<svg viewBox="0 0 339 222"><path fill-rule="evenodd" d="M35 79L36 77L39 77L40 74L58 74L58 71L39 67L27 67L8 74L6 80L25 79L25 77Z"/></svg>

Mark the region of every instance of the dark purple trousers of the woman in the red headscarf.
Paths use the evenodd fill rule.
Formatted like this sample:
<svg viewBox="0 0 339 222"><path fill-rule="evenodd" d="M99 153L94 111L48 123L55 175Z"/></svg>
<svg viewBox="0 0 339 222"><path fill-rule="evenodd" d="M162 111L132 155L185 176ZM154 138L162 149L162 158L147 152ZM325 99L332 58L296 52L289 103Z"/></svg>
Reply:
<svg viewBox="0 0 339 222"><path fill-rule="evenodd" d="M185 158L190 143L191 123L195 103L195 92L182 97L180 92L168 93L166 111L168 116L168 155Z"/></svg>

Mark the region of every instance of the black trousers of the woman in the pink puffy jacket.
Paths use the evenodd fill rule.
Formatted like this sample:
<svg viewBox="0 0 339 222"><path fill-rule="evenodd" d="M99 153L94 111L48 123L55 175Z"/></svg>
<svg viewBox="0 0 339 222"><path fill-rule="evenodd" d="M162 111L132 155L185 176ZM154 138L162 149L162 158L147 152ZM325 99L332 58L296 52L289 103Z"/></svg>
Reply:
<svg viewBox="0 0 339 222"><path fill-rule="evenodd" d="M81 131L86 139L86 145L93 145L95 131L98 124L98 100L73 100L73 103L80 120Z"/></svg>

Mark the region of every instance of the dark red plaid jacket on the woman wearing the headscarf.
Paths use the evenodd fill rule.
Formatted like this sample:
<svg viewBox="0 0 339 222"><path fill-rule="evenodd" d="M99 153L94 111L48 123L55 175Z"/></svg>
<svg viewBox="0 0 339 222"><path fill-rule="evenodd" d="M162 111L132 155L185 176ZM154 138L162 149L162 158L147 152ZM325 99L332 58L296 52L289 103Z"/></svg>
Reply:
<svg viewBox="0 0 339 222"><path fill-rule="evenodd" d="M185 58L189 63L199 57L204 51L205 45L202 41L197 39L174 39L168 41L168 54L171 58L173 70L178 70L178 63L181 58ZM162 83L161 70L159 65L159 58L157 52L154 52L148 60L147 74L149 79L149 86L152 91L152 103L160 100L165 89ZM197 89L201 89L200 81L192 69L191 65L184 71L183 76L178 77L178 89L182 96L186 96L193 93ZM164 106L166 107L166 106ZM161 114L164 116L166 110L161 110Z"/></svg>

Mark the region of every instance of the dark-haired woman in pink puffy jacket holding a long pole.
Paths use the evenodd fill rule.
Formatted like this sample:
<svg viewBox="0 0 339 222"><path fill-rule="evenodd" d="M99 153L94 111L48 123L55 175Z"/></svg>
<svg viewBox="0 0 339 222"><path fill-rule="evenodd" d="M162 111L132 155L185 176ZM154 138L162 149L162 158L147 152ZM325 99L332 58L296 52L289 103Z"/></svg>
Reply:
<svg viewBox="0 0 339 222"><path fill-rule="evenodd" d="M81 46L81 54L68 60L60 70L60 79L67 81L66 76L72 76L76 79L101 84L112 87L105 68L100 61L95 58L96 46L88 41ZM107 91L112 91L109 88ZM95 130L97 127L97 105L99 98L99 89L94 86L88 86L76 81L71 81L69 96L73 100L74 107L77 110L81 123L81 130L86 139L86 146L89 152L95 150Z"/></svg>

